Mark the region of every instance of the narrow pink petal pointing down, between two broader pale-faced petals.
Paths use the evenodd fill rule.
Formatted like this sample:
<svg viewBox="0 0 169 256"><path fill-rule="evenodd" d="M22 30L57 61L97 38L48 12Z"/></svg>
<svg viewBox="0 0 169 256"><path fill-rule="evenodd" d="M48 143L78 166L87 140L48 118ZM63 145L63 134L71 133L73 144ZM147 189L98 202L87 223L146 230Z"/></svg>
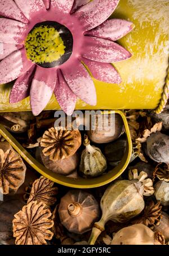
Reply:
<svg viewBox="0 0 169 256"><path fill-rule="evenodd" d="M60 69L57 70L57 82L54 93L61 109L70 116L74 111L77 96L69 88Z"/></svg>

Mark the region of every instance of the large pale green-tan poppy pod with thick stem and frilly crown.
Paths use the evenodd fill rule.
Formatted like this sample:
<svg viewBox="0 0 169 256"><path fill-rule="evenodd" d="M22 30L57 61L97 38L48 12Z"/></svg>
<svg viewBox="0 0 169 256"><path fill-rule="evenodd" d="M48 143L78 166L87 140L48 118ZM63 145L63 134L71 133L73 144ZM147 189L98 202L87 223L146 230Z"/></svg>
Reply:
<svg viewBox="0 0 169 256"><path fill-rule="evenodd" d="M89 244L95 244L108 220L127 222L143 211L145 206L143 195L150 196L154 193L153 182L146 177L146 173L141 172L138 175L135 170L134 173L130 172L132 180L119 180L106 189L100 203L102 217L94 224Z"/></svg>

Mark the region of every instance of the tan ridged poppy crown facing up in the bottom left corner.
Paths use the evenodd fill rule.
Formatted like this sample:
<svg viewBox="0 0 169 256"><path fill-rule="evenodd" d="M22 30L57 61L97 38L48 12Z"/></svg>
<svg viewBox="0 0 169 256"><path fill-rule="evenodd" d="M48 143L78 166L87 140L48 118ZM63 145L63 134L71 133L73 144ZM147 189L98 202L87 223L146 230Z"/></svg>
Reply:
<svg viewBox="0 0 169 256"><path fill-rule="evenodd" d="M45 204L32 201L14 215L13 232L16 245L45 245L54 233L50 230L54 226L49 209Z"/></svg>

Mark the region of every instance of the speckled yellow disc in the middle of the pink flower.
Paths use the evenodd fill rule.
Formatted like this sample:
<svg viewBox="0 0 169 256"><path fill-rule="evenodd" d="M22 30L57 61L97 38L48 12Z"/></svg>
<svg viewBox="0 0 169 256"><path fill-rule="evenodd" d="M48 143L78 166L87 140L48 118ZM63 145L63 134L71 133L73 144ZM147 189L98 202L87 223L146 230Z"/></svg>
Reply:
<svg viewBox="0 0 169 256"><path fill-rule="evenodd" d="M28 59L34 63L52 63L65 54L63 39L56 28L40 25L30 31L25 42Z"/></svg>

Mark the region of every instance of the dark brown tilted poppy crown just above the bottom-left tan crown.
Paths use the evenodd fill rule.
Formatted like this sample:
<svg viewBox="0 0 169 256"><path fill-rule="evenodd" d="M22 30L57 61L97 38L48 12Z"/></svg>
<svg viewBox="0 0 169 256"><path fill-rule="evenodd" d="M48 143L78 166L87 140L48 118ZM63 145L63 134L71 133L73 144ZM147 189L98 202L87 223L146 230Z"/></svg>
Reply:
<svg viewBox="0 0 169 256"><path fill-rule="evenodd" d="M43 202L47 207L50 207L57 201L57 192L58 189L54 187L54 182L41 176L32 185L28 204L29 202L37 201Z"/></svg>

